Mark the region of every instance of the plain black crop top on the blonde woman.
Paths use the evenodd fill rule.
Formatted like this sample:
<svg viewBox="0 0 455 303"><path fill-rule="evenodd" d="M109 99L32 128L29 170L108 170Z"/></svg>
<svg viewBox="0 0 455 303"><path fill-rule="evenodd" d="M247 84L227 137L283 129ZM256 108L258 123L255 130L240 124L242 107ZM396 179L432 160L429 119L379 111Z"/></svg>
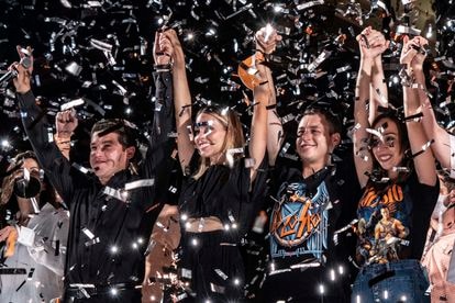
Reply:
<svg viewBox="0 0 455 303"><path fill-rule="evenodd" d="M245 158L234 161L232 168L212 165L196 180L192 175L199 165L195 152L190 161L190 177L185 177L179 200L180 216L220 218L229 228L231 239L238 242L249 229L266 193L267 159L264 157L249 189L251 168Z"/></svg>

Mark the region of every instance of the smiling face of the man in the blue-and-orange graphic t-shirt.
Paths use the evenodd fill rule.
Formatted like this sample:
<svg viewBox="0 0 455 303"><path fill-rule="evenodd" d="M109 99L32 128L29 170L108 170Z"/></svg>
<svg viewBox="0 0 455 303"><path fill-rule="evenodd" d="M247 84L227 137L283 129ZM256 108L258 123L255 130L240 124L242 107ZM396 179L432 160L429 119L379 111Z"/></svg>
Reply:
<svg viewBox="0 0 455 303"><path fill-rule="evenodd" d="M329 122L322 114L306 114L301 119L297 130L296 150L303 166L323 168L339 143L340 134L331 134Z"/></svg>

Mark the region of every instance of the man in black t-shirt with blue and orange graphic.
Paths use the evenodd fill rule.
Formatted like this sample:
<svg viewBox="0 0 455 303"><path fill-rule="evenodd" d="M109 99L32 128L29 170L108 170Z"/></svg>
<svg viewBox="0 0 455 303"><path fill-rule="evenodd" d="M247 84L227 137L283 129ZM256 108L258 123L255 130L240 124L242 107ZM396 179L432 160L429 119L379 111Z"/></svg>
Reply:
<svg viewBox="0 0 455 303"><path fill-rule="evenodd" d="M275 110L271 75L267 89L273 96L267 152L274 167L270 192L275 204L269 214L270 262L260 300L348 302L347 250L335 247L334 237L355 216L356 187L344 182L346 171L331 161L341 143L340 116L318 104L303 111L296 138L299 167L291 166L278 157L285 136Z"/></svg>

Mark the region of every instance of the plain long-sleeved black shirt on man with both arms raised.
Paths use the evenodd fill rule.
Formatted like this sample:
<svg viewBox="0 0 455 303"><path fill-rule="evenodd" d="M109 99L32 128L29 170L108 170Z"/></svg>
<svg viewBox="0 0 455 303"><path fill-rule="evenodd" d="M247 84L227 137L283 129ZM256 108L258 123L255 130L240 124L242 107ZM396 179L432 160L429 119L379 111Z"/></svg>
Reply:
<svg viewBox="0 0 455 303"><path fill-rule="evenodd" d="M146 211L155 201L156 184L126 190L127 199L115 197L137 180L166 179L165 155L170 155L168 133L173 127L171 76L155 76L156 99L151 146L138 176L129 170L119 171L107 186L98 178L81 173L71 167L53 141L49 141L46 115L35 104L32 92L18 94L25 132L31 141L40 165L45 170L70 211L68 251L65 283L109 284L141 282L144 272L144 250L153 222L147 222ZM159 128L159 120L165 121ZM51 136L52 137L52 136ZM138 152L136 152L138 153ZM157 176L158 177L158 176ZM124 191L123 191L124 192Z"/></svg>

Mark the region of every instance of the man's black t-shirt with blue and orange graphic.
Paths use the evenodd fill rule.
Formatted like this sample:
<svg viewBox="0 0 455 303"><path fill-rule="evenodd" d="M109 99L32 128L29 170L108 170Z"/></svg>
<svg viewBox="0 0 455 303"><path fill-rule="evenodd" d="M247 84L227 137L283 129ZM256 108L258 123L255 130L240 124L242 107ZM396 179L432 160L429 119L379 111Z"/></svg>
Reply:
<svg viewBox="0 0 455 303"><path fill-rule="evenodd" d="M322 265L332 246L331 235L340 213L329 181L331 169L324 168L307 179L297 169L287 175L288 181L278 190L270 217L274 269Z"/></svg>

